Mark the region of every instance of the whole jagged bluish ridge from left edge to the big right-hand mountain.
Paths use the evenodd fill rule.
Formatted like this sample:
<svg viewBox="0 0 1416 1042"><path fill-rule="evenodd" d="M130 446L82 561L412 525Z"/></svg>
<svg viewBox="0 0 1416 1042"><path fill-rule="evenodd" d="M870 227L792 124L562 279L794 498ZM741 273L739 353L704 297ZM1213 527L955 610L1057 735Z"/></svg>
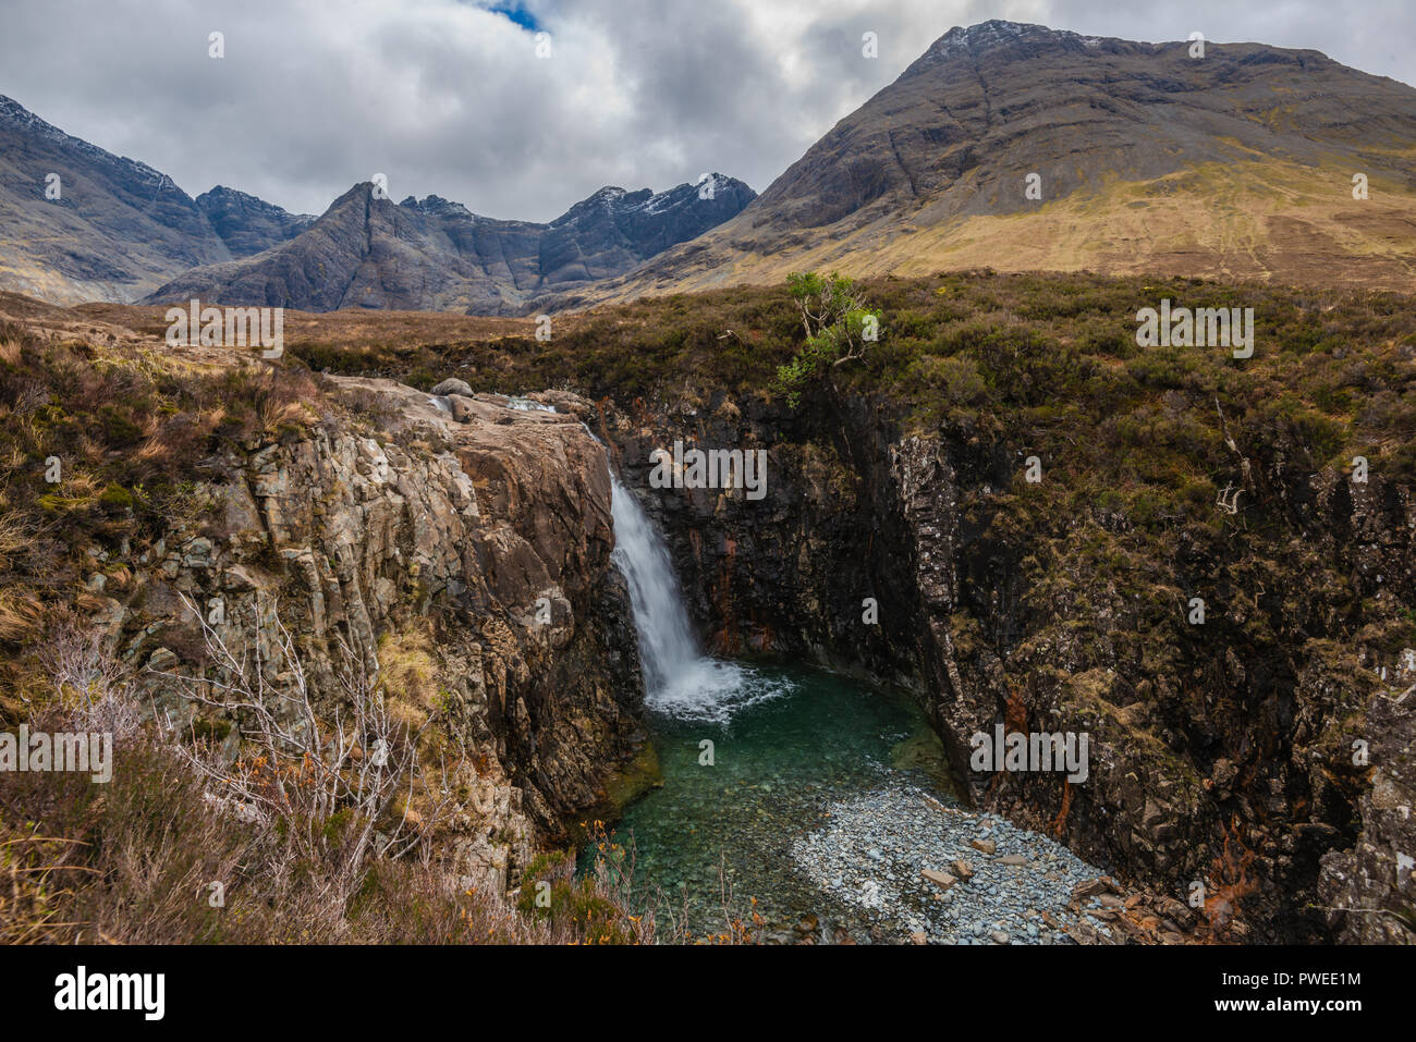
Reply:
<svg viewBox="0 0 1416 1042"><path fill-rule="evenodd" d="M59 197L45 198L48 174ZM511 313L623 275L755 198L712 174L663 193L606 187L548 224L355 185L320 217L217 185L193 198L0 96L0 290L51 303L201 296L306 310Z"/></svg>

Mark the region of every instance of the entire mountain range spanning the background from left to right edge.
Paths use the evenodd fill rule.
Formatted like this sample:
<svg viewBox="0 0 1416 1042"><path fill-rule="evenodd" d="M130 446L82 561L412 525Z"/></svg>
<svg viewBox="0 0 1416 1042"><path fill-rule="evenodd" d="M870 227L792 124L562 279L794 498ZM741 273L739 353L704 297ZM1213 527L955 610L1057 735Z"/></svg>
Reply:
<svg viewBox="0 0 1416 1042"><path fill-rule="evenodd" d="M1317 51L1192 51L956 27L760 197L716 174L711 191L610 187L549 224L367 184L317 219L219 185L193 200L0 98L0 289L508 314L803 269L1410 287L1416 89Z"/></svg>

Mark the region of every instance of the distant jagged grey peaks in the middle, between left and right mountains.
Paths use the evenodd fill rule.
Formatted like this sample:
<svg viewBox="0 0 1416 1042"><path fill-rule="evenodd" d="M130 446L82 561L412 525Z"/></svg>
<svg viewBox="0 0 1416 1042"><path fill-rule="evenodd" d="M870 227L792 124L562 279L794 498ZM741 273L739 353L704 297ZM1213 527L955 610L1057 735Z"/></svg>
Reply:
<svg viewBox="0 0 1416 1042"><path fill-rule="evenodd" d="M654 194L600 188L549 224L479 217L438 195L402 202L350 188L307 229L262 253L195 268L146 303L462 310L506 314L541 294L623 275L735 217L755 197L712 174Z"/></svg>

